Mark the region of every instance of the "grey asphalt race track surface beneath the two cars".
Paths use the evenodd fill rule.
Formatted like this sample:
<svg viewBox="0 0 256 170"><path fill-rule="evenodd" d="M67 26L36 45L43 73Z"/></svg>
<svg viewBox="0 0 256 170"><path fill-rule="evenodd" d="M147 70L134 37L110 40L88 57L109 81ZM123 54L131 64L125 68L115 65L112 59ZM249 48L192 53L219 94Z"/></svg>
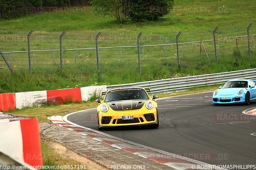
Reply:
<svg viewBox="0 0 256 170"><path fill-rule="evenodd" d="M256 162L256 116L242 111L256 107L212 105L212 92L156 100L157 129L118 128L104 133L186 156L212 165L253 165ZM98 130L96 109L68 116L68 121Z"/></svg>

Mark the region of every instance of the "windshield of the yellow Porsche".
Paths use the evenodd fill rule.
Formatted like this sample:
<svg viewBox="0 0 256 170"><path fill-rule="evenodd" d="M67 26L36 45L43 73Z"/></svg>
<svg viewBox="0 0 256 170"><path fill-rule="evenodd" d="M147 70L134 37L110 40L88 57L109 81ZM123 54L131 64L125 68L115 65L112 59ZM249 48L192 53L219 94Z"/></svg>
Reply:
<svg viewBox="0 0 256 170"><path fill-rule="evenodd" d="M106 94L105 101L117 101L117 100L136 100L136 99L144 99L148 100L148 95L145 90L142 89L125 89L125 90L115 90L109 91Z"/></svg>

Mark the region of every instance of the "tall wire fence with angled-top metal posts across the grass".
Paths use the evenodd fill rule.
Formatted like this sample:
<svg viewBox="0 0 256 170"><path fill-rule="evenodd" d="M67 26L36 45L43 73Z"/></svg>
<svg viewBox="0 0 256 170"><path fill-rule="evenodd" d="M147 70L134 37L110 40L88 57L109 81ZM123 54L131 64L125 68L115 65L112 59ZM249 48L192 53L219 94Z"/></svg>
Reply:
<svg viewBox="0 0 256 170"><path fill-rule="evenodd" d="M176 33L85 33L0 28L0 71L114 73L198 68L255 59L256 25Z"/></svg>

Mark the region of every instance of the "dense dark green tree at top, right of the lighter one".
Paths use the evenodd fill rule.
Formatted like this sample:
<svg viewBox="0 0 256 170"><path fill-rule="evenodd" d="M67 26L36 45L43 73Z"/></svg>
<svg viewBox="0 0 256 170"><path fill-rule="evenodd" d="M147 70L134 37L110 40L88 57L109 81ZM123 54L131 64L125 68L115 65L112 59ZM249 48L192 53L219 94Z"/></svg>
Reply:
<svg viewBox="0 0 256 170"><path fill-rule="evenodd" d="M174 0L132 0L130 11L132 21L155 21L168 14L174 5Z"/></svg>

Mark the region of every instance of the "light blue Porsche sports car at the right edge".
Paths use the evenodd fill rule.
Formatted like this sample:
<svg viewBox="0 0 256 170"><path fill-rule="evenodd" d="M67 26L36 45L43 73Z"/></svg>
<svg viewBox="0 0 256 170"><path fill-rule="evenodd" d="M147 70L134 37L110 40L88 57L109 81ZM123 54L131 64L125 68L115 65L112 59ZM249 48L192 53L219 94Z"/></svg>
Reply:
<svg viewBox="0 0 256 170"><path fill-rule="evenodd" d="M245 103L256 100L256 80L229 80L212 94L212 104Z"/></svg>

